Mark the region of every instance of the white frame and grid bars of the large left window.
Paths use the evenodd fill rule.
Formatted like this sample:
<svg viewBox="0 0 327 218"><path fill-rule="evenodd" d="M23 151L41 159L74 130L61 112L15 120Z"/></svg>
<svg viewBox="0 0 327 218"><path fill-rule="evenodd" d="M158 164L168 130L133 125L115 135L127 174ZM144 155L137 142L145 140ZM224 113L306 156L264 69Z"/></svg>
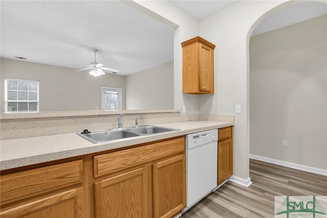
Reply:
<svg viewBox="0 0 327 218"><path fill-rule="evenodd" d="M37 100L8 100L8 81L13 80L13 81L17 81L18 82L33 82L37 84ZM18 87L17 87L17 92L18 92ZM27 90L27 92L32 92L29 89ZM34 91L33 91L34 92ZM9 102L15 102L15 103L19 103L19 102L27 102L27 111L18 111L18 106L17 106L17 111L8 111L8 103ZM29 111L29 102L36 102L37 106L36 106L36 111ZM16 78L5 78L5 113L36 113L40 111L40 81L38 80L28 80L28 79L16 79Z"/></svg>

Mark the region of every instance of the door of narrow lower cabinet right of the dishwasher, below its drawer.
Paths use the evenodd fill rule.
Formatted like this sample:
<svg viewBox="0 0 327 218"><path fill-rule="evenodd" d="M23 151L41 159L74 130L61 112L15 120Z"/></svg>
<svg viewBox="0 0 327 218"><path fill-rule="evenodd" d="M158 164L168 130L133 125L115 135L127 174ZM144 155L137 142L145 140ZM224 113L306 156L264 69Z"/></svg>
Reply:
<svg viewBox="0 0 327 218"><path fill-rule="evenodd" d="M231 139L218 142L218 184L232 175Z"/></svg>

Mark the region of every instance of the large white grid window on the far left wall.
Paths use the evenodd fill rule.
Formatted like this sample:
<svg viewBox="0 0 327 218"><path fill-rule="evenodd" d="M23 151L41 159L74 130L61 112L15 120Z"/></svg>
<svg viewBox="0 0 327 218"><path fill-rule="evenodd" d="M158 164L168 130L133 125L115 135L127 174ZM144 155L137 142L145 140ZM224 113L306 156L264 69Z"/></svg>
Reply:
<svg viewBox="0 0 327 218"><path fill-rule="evenodd" d="M5 79L5 112L38 112L39 81Z"/></svg>

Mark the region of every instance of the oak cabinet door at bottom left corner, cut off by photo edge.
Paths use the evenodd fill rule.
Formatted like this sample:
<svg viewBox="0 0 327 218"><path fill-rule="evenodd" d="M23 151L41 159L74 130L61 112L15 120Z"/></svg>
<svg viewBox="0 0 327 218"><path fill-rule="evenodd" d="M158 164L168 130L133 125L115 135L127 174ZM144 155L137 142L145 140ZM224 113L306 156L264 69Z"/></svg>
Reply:
<svg viewBox="0 0 327 218"><path fill-rule="evenodd" d="M85 208L83 196L83 188L72 189L4 210L0 216L2 218L83 218Z"/></svg>

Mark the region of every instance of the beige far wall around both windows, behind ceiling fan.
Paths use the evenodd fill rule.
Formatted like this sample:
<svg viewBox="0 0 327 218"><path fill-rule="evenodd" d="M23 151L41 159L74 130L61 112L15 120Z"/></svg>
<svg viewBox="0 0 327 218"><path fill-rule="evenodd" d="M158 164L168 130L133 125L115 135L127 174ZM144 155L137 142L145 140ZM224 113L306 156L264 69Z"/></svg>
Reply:
<svg viewBox="0 0 327 218"><path fill-rule="evenodd" d="M125 76L106 74L91 76L87 71L51 66L47 64L1 58L1 93L4 79L40 81L40 111L101 110L101 86L123 89L122 107L125 108ZM72 87L73 86L73 87ZM1 112L4 112L1 95Z"/></svg>

